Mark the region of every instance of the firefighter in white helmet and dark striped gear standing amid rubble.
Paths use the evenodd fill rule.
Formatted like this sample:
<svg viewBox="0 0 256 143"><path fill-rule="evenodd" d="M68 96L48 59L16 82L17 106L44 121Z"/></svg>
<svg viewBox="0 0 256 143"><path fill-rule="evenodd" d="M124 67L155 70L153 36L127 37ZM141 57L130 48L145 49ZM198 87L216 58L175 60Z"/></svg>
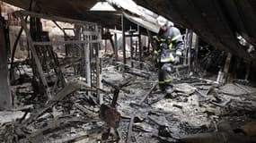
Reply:
<svg viewBox="0 0 256 143"><path fill-rule="evenodd" d="M175 28L171 21L160 16L157 22L160 30L154 37L156 41L154 55L158 57L158 83L162 91L170 94L172 93L172 65L180 63L183 39L180 30Z"/></svg>

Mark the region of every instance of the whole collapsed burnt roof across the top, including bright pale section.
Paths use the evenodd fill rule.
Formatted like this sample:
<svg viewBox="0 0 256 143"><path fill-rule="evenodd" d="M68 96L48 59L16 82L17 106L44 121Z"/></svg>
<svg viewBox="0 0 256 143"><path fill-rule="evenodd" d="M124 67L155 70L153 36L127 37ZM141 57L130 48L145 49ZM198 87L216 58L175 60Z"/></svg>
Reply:
<svg viewBox="0 0 256 143"><path fill-rule="evenodd" d="M30 0L4 0L28 10ZM196 31L199 36L217 48L238 55L247 60L254 59L254 55L247 52L248 47L240 45L238 36L242 36L253 46L256 45L255 14L256 4L254 1L189 1L189 0L155 0L137 1L138 6L133 1L114 1L109 3L119 12L92 12L90 9L98 1L42 1L38 0L43 12L48 14L72 18L82 21L95 21L102 26L114 28L116 25L120 29L119 14L124 15L146 29L157 32L155 27L155 13L165 16L189 29ZM50 4L49 4L50 3ZM102 3L102 2L100 2ZM150 12L151 10L152 12ZM121 11L121 12L120 12Z"/></svg>

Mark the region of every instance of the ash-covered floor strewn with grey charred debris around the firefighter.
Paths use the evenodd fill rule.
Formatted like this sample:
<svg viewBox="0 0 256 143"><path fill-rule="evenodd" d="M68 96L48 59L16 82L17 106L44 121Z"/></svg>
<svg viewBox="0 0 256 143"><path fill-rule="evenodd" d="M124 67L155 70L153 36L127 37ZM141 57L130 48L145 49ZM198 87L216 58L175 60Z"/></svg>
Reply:
<svg viewBox="0 0 256 143"><path fill-rule="evenodd" d="M20 78L29 79L30 68L22 66L26 74ZM126 82L119 89L120 122L114 130L99 117L100 105L87 95L88 88L78 90L81 78L70 72L64 72L70 81L66 91L73 92L46 104L32 96L31 83L13 86L14 108L0 113L1 142L252 142L255 135L256 88L247 82L220 86L181 74L174 76L174 91L167 96L154 69L140 71L146 79L107 64L104 80L117 86ZM114 88L105 84L103 89L104 104L110 105Z"/></svg>

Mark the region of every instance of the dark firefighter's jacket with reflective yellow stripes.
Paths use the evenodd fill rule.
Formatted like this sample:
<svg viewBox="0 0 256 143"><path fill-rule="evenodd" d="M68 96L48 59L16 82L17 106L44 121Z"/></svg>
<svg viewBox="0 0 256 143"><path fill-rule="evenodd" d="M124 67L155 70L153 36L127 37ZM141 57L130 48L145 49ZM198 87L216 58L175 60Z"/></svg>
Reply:
<svg viewBox="0 0 256 143"><path fill-rule="evenodd" d="M183 50L183 39L179 29L169 27L165 31L159 30L156 37L154 54L158 55L160 63L172 63L175 56L181 56Z"/></svg>

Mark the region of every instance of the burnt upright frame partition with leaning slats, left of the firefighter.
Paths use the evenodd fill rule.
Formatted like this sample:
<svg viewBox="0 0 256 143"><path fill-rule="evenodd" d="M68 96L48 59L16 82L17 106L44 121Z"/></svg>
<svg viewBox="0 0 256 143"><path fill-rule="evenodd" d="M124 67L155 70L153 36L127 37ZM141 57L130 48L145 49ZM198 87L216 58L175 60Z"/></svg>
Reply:
<svg viewBox="0 0 256 143"><path fill-rule="evenodd" d="M18 11L13 13L20 19L28 42L28 58L22 64L31 68L30 79L34 95L41 95L51 100L68 82L83 80L84 87L101 88L102 79L102 32L101 27L92 22L75 21L40 13ZM29 19L28 19L29 18ZM49 38L49 32L42 29L40 19L53 21L64 33L65 40L57 41ZM57 21L74 24L74 35L66 34ZM30 23L30 24L28 24ZM29 27L28 27L29 26ZM66 55L59 57L53 46L66 47ZM13 48L13 53L15 48ZM15 64L12 57L11 72L16 72L21 64ZM17 66L15 66L17 65ZM13 80L13 79L12 79ZM22 84L22 83L21 83ZM87 92L98 95L97 90Z"/></svg>

